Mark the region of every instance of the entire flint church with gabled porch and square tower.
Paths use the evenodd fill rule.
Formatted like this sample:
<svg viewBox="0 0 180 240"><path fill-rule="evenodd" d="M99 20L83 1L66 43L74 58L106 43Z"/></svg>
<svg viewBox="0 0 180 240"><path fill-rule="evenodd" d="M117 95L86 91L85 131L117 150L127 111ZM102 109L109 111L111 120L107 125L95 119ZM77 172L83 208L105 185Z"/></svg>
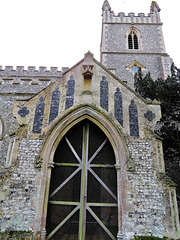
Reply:
<svg viewBox="0 0 180 240"><path fill-rule="evenodd" d="M171 74L158 4L136 16L104 0L101 36L100 62L0 69L0 239L180 238L160 103L133 82Z"/></svg>

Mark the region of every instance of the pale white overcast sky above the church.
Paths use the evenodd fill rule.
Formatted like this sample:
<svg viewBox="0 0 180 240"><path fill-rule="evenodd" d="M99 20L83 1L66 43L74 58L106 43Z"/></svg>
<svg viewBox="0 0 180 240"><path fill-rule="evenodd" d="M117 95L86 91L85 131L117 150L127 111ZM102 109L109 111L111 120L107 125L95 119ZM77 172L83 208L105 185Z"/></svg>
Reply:
<svg viewBox="0 0 180 240"><path fill-rule="evenodd" d="M0 65L72 67L90 50L100 61L104 0L0 0ZM109 0L118 12L150 12L151 0ZM157 0L166 52L180 68L180 1Z"/></svg>

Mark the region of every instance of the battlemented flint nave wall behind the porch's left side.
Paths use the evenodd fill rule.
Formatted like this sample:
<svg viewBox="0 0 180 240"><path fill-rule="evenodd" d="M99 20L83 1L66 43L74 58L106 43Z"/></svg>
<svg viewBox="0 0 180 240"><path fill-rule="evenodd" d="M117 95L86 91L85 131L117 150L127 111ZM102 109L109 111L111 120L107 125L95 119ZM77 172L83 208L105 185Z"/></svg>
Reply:
<svg viewBox="0 0 180 240"><path fill-rule="evenodd" d="M63 68L62 72L67 70ZM0 140L0 172L3 170L6 162L6 156L13 131L18 128L18 122L13 116L13 105L16 100L23 100L32 97L42 89L57 81L62 72L56 67L52 67L49 71L46 67L6 66L4 69L0 66L0 117L2 121L3 141Z"/></svg>

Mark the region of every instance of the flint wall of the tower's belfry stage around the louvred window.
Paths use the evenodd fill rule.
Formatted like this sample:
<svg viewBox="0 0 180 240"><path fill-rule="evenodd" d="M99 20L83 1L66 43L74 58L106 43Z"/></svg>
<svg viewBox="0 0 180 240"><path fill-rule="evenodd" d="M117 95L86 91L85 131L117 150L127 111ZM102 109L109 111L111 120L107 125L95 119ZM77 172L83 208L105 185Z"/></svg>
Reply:
<svg viewBox="0 0 180 240"><path fill-rule="evenodd" d="M160 24L133 24L133 28L140 32L139 49L128 49L128 41L126 34L132 28L131 23L113 23L103 24L103 34L105 42L102 46L103 52L114 53L165 53L162 45L161 25Z"/></svg>

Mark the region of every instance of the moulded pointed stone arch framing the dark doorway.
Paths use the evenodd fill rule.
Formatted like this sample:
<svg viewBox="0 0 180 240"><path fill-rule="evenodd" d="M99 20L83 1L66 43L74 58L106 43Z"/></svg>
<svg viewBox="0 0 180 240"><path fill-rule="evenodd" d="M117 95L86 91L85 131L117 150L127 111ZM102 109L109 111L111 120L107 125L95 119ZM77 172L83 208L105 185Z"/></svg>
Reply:
<svg viewBox="0 0 180 240"><path fill-rule="evenodd" d="M122 216L124 215L126 200L125 196L125 172L126 163L129 159L128 148L121 130L108 117L108 115L95 109L93 106L80 106L68 113L53 124L43 145L41 156L43 158L41 184L39 186L39 202L37 204L34 224L35 239L45 239L46 215L51 177L53 157L56 148L63 136L78 122L88 119L95 123L107 136L114 150L117 169L118 184L118 231L122 232Z"/></svg>

